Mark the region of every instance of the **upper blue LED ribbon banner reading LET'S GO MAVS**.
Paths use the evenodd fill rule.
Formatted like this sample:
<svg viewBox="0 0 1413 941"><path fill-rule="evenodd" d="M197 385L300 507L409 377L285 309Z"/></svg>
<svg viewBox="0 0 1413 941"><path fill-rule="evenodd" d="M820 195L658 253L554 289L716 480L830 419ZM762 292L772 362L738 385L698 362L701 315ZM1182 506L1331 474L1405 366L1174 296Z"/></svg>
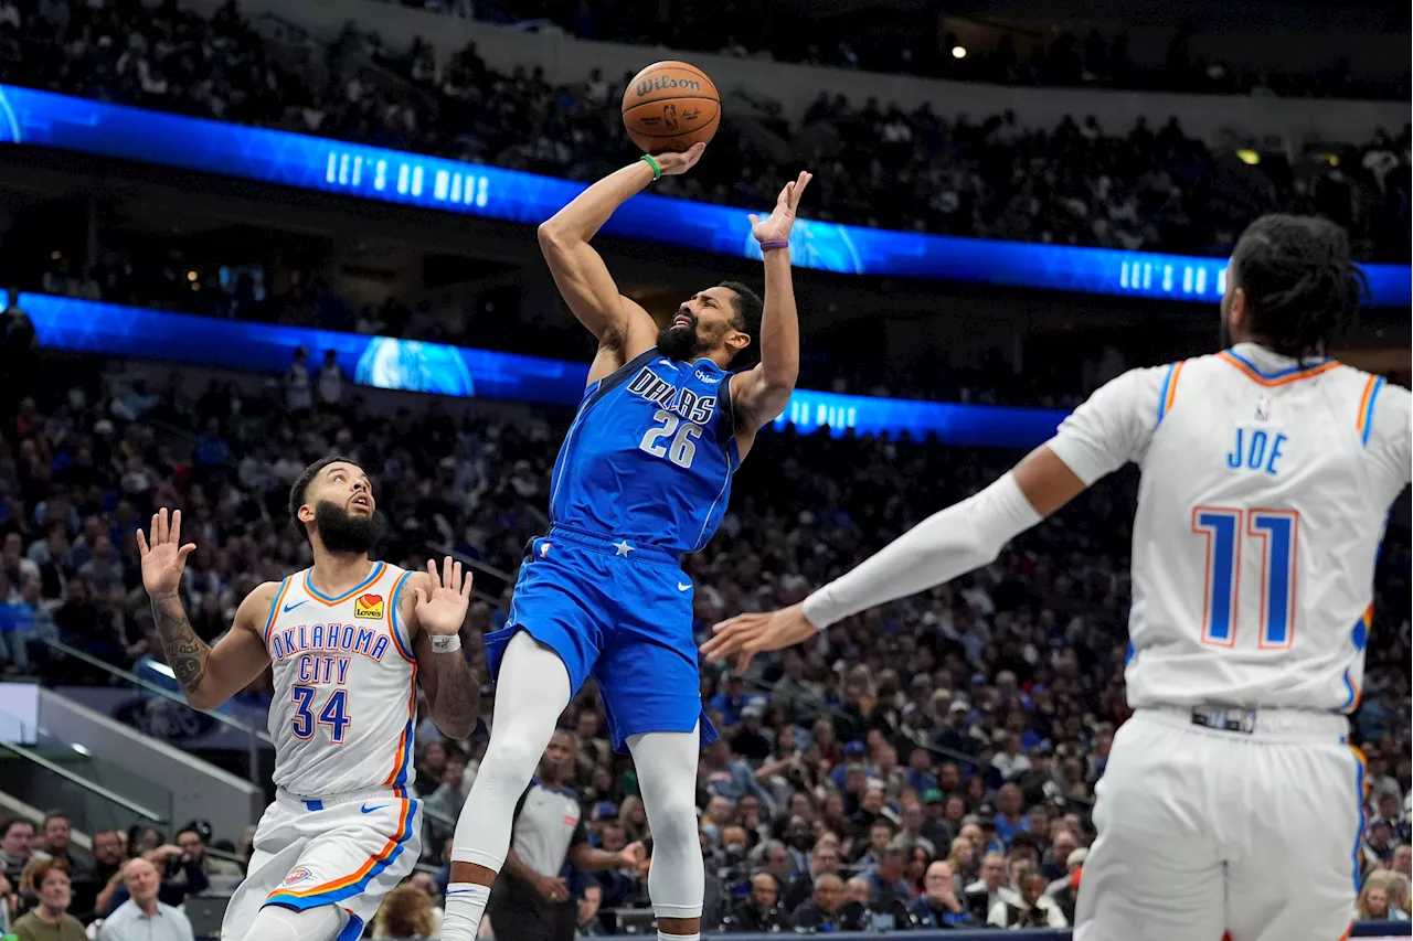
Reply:
<svg viewBox="0 0 1413 941"><path fill-rule="evenodd" d="M537 225L584 184L380 147L146 112L0 85L0 143L54 147L239 179ZM625 154L625 161L627 160ZM745 209L642 195L603 232L759 259ZM1215 301L1225 259L887 232L803 219L801 267L1177 301ZM1365 266L1372 304L1413 305L1413 266Z"/></svg>

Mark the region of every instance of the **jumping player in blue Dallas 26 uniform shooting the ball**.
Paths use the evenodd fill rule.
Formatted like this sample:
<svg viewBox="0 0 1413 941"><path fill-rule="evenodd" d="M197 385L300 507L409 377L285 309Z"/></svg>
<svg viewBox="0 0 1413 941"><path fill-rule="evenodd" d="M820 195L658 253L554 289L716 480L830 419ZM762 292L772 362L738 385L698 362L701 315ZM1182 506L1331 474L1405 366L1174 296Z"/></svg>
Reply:
<svg viewBox="0 0 1413 941"><path fill-rule="evenodd" d="M496 711L452 844L444 941L476 937L516 804L589 675L613 746L637 767L654 838L649 894L658 937L698 937L697 754L716 732L702 715L692 584L678 560L712 537L732 473L794 390L800 326L788 239L810 174L786 185L770 216L750 218L764 301L726 281L682 301L658 329L619 292L589 240L658 171L687 172L702 148L630 164L540 226L555 284L599 348L554 466L551 528L527 547L507 626L486 637ZM757 346L760 362L732 372ZM557 894L548 900L562 901Z"/></svg>

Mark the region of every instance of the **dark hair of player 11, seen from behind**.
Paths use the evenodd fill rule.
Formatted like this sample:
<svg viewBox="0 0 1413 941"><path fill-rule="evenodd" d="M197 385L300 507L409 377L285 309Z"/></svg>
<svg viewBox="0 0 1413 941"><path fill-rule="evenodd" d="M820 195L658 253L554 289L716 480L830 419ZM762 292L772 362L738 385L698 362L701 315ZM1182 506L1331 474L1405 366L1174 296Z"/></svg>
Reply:
<svg viewBox="0 0 1413 941"><path fill-rule="evenodd" d="M1246 294L1251 332L1293 359L1321 353L1354 321L1369 288L1344 229L1284 213L1246 227L1232 250L1229 277Z"/></svg>

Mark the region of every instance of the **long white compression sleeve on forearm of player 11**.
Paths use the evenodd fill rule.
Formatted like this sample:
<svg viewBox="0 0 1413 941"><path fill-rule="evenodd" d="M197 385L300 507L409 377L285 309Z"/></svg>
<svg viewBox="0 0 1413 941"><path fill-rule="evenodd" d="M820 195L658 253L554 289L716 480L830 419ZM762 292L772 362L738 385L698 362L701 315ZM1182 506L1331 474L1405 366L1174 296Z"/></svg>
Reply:
<svg viewBox="0 0 1413 941"><path fill-rule="evenodd" d="M996 561L1006 543L1039 521L1040 514L1007 472L805 598L804 615L822 630L875 605L941 585Z"/></svg>

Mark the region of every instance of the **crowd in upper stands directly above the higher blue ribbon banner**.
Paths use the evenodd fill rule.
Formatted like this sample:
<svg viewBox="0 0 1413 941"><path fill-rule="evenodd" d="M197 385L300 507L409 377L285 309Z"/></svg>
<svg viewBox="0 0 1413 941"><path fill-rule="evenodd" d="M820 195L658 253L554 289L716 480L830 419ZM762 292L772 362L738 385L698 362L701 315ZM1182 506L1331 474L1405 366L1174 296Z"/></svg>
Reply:
<svg viewBox="0 0 1413 941"><path fill-rule="evenodd" d="M374 82L363 62L391 81ZM439 62L422 41L390 49L352 27L324 62L298 64L270 52L233 6L211 20L171 0L0 6L0 81L574 179L632 155L615 106L625 78L595 71L555 86L538 69L499 73L473 47ZM1287 209L1340 222L1362 257L1413 254L1413 129L1248 167L1176 123L1101 127L1077 114L1039 131L1013 114L952 119L842 96L822 96L794 127L769 100L740 110L757 112L750 120L790 158L747 138L742 114L692 174L658 191L757 208L804 164L811 215L866 226L1225 254L1246 222Z"/></svg>

